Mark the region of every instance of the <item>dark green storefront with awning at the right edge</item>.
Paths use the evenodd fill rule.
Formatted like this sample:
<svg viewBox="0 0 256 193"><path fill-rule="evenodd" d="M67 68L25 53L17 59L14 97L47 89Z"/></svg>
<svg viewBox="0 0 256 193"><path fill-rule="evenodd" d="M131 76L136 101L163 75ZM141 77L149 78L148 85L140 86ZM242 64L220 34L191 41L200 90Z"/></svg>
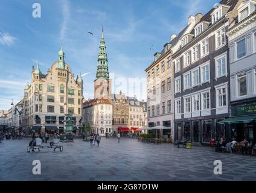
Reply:
<svg viewBox="0 0 256 193"><path fill-rule="evenodd" d="M245 103L244 103L245 104ZM248 138L256 141L256 104L231 106L231 117L219 121L219 125L230 125L229 138L234 136L237 141Z"/></svg>

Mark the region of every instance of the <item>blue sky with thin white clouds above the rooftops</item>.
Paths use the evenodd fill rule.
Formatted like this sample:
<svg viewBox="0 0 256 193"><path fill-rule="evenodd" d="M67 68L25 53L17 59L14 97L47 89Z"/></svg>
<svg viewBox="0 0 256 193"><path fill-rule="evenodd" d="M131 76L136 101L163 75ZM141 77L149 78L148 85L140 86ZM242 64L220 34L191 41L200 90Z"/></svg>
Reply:
<svg viewBox="0 0 256 193"><path fill-rule="evenodd" d="M188 16L205 14L217 2L0 0L0 109L22 99L32 65L39 62L46 74L61 44L72 73L83 75L83 95L93 98L102 25L112 92L146 100L145 69L155 52L185 28ZM33 17L34 3L40 4L41 17Z"/></svg>

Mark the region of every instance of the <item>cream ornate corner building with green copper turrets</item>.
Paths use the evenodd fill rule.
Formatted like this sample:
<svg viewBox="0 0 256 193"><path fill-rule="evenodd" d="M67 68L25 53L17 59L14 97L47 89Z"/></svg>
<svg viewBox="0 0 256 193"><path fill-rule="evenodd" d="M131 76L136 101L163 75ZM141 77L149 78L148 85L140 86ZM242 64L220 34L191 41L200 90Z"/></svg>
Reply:
<svg viewBox="0 0 256 193"><path fill-rule="evenodd" d="M82 76L72 74L65 62L65 53L59 51L59 60L46 74L32 66L31 83L24 89L24 127L41 131L66 131L67 116L74 125L80 125L83 103ZM74 127L75 128L75 127Z"/></svg>

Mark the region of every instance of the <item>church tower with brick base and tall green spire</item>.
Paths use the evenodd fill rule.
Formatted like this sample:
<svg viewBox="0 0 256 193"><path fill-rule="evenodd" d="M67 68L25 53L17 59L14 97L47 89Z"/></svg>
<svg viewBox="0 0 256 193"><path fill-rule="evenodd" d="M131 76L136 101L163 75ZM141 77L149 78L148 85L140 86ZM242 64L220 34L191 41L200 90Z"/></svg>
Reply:
<svg viewBox="0 0 256 193"><path fill-rule="evenodd" d="M102 28L100 50L98 52L98 65L96 80L94 81L95 98L110 98L111 80L109 78L109 67L107 64L107 52Z"/></svg>

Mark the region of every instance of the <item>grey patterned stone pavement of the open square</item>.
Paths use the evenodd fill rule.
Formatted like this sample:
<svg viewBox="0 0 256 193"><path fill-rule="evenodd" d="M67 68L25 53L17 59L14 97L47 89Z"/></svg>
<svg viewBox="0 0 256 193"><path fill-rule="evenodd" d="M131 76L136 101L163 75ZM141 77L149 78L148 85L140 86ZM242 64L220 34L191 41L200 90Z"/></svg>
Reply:
<svg viewBox="0 0 256 193"><path fill-rule="evenodd" d="M256 180L256 156L191 150L172 144L144 144L136 139L105 139L91 147L81 139L60 143L63 152L43 149L27 153L29 140L0 143L0 180ZM40 160L42 174L32 173ZM214 175L222 160L222 175Z"/></svg>

